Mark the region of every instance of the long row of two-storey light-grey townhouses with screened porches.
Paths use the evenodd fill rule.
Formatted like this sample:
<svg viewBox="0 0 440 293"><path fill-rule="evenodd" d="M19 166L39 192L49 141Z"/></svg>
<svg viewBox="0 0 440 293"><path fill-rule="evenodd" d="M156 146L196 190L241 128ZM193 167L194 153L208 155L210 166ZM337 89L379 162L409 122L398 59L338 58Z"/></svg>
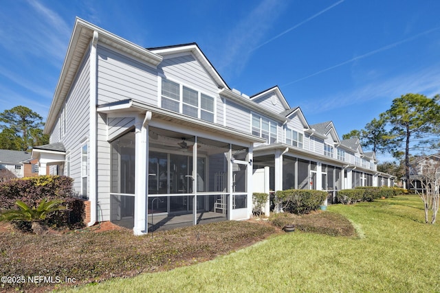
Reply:
<svg viewBox="0 0 440 293"><path fill-rule="evenodd" d="M333 201L338 189L393 185L374 154L340 141L331 122L309 126L278 86L241 94L195 43L144 49L82 19L45 133L50 144L33 150L40 174L74 178L89 225L111 220L137 235L248 219L256 189L324 189Z"/></svg>

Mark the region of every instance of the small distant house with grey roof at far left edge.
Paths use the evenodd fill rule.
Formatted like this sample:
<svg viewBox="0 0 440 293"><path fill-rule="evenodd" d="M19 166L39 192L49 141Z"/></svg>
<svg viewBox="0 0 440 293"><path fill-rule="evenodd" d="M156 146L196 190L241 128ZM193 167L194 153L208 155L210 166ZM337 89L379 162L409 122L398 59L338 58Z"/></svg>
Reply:
<svg viewBox="0 0 440 293"><path fill-rule="evenodd" d="M31 152L0 150L0 181L38 174L39 162L32 159Z"/></svg>

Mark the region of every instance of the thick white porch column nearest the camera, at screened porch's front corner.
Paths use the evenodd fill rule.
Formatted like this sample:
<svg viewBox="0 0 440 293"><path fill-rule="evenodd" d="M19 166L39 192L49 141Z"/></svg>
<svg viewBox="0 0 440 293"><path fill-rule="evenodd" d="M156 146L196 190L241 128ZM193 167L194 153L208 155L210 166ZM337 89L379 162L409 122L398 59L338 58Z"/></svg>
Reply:
<svg viewBox="0 0 440 293"><path fill-rule="evenodd" d="M143 120L142 120L143 119ZM148 232L147 182L148 182L148 135L146 126L151 119L151 112L145 117L139 115L135 122L135 219L133 233L142 235Z"/></svg>

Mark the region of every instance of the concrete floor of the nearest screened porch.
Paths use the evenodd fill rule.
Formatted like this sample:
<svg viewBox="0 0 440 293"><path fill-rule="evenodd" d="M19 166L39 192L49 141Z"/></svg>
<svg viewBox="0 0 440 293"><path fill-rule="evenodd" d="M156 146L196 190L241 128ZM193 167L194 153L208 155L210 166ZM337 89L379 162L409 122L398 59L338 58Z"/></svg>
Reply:
<svg viewBox="0 0 440 293"><path fill-rule="evenodd" d="M185 214L149 214L148 215L148 232L152 231L166 231L173 228L192 226L192 213ZM222 213L214 213L206 211L197 213L197 224L208 224L212 222L221 222L228 220L227 215ZM134 219L112 220L113 224L123 226L125 228L133 228Z"/></svg>

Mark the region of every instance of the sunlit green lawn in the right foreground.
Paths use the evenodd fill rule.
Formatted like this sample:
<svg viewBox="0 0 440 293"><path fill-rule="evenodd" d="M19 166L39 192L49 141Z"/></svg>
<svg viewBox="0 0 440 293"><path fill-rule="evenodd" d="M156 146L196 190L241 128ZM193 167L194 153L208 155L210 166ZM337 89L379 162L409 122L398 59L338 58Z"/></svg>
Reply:
<svg viewBox="0 0 440 293"><path fill-rule="evenodd" d="M285 233L168 272L89 284L81 292L440 292L440 227L417 196L334 205L358 237Z"/></svg>

